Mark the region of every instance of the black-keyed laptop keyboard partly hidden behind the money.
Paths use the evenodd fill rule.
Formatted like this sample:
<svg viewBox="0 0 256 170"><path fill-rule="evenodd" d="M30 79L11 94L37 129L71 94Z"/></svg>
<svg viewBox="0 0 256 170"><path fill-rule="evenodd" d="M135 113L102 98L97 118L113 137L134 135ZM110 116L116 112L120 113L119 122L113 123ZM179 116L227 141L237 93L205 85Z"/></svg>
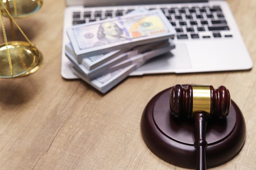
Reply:
<svg viewBox="0 0 256 170"><path fill-rule="evenodd" d="M85 8L85 11L73 12L73 25L93 22L106 18L123 16L138 8L134 6L124 9L108 10L100 8ZM153 10L156 8L148 8ZM166 18L176 29L176 40L218 39L232 38L230 28L220 6L193 6L193 7L164 7L160 8Z"/></svg>

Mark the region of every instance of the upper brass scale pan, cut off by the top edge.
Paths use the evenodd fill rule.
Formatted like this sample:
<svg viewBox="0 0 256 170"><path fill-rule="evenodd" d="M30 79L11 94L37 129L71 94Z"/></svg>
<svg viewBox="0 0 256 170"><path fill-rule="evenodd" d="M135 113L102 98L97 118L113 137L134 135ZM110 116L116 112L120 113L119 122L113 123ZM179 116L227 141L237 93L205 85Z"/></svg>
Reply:
<svg viewBox="0 0 256 170"><path fill-rule="evenodd" d="M5 7L13 18L24 18L37 12L43 4L42 0L3 0ZM8 13L1 7L3 16L9 17Z"/></svg>

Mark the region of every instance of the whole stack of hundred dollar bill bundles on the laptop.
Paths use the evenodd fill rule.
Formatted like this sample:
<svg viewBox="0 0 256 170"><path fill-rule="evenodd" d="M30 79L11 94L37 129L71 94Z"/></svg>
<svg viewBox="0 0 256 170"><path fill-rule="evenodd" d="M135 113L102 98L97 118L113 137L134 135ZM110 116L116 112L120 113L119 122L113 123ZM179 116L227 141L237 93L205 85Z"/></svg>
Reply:
<svg viewBox="0 0 256 170"><path fill-rule="evenodd" d="M161 10L140 10L68 28L65 54L78 77L106 93L149 59L174 49L175 33Z"/></svg>

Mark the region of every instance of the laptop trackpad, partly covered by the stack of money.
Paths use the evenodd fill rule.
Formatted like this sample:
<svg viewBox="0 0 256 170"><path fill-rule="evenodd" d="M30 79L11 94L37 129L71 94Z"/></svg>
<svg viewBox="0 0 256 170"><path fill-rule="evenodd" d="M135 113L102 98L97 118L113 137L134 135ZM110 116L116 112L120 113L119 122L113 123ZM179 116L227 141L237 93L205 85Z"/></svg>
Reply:
<svg viewBox="0 0 256 170"><path fill-rule="evenodd" d="M175 49L171 50L170 53L150 59L129 75L176 73L180 69L191 68L186 44L180 43L175 46Z"/></svg>

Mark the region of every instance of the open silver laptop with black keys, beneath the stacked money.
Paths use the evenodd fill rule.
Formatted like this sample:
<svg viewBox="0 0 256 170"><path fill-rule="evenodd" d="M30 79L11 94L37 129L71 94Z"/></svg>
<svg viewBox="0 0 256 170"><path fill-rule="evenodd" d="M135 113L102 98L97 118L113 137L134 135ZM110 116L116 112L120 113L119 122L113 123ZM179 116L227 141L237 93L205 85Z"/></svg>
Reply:
<svg viewBox="0 0 256 170"><path fill-rule="evenodd" d="M130 76L248 70L253 66L225 0L66 0L61 76L78 78L65 56L66 30L76 24L122 16L134 9L161 9L176 30L170 53L153 58Z"/></svg>

